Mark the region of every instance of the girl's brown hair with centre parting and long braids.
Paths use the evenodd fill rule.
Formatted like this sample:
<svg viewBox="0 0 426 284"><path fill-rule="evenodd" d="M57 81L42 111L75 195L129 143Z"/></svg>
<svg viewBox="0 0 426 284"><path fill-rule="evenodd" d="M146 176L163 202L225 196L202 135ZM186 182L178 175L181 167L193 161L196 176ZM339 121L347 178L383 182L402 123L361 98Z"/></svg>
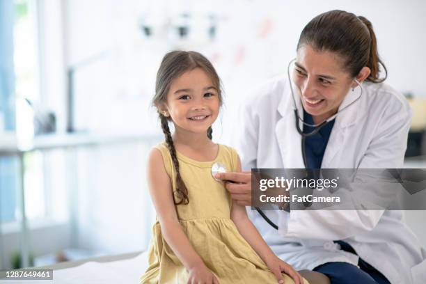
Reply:
<svg viewBox="0 0 426 284"><path fill-rule="evenodd" d="M178 201L175 200L175 205L188 204L188 189L184 184L179 171L179 161L176 156L175 144L171 136L168 122L171 121L170 117L166 117L159 111L159 107L162 104L167 103L167 94L170 90L170 86L174 79L180 77L184 72L194 70L195 68L201 68L207 75L212 79L212 83L217 90L219 97L219 104L222 105L222 94L221 94L221 81L219 79L216 70L210 61L205 56L198 52L184 52L184 51L173 51L168 52L163 60L161 61L159 70L157 72L157 80L155 81L155 96L152 99L152 104L157 107L159 119L161 121L161 129L163 129L164 136L166 137L167 148L171 154L173 166L176 171L176 191ZM212 139L212 127L207 129L207 137Z"/></svg>

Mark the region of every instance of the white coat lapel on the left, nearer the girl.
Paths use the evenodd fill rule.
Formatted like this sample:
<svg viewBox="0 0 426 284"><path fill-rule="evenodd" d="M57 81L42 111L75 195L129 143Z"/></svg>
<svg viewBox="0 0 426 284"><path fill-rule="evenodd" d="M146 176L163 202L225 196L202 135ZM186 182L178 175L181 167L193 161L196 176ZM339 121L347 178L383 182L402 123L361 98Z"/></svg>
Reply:
<svg viewBox="0 0 426 284"><path fill-rule="evenodd" d="M299 97L295 97L295 99L299 113L303 113ZM287 85L280 104L278 104L278 112L281 118L276 123L275 135L284 168L305 168L301 153L301 136L296 129L292 102L290 86ZM299 125L302 127L301 123Z"/></svg>

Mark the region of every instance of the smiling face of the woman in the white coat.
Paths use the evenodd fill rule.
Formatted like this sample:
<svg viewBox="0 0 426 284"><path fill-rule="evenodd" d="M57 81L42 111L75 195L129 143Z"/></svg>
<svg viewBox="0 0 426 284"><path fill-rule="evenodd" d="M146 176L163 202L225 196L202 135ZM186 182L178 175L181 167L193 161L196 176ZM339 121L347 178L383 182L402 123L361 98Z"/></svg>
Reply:
<svg viewBox="0 0 426 284"><path fill-rule="evenodd" d="M309 45L297 51L293 81L300 90L303 108L315 123L333 116L354 86L354 78L344 70L338 54L317 51Z"/></svg>

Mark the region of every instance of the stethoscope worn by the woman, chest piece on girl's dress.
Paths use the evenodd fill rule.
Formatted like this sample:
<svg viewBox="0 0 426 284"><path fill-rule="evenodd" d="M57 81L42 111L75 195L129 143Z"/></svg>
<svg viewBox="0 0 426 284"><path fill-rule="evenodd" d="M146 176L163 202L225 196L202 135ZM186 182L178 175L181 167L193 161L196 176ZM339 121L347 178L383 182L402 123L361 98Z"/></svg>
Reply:
<svg viewBox="0 0 426 284"><path fill-rule="evenodd" d="M292 93L292 99L293 99L293 107L294 107L294 118L296 121L296 129L297 132L299 132L299 134L302 136L302 156L303 156L303 164L305 164L305 168L306 168L306 154L305 154L305 139L306 137L309 136L313 136L315 134L317 134L319 132L319 130L322 129L322 127L324 127L325 125L327 125L327 123L329 123L330 121L332 121L333 119L336 118L336 116L338 115L338 113L342 112L343 110L347 109L347 107L349 107L350 105L354 104L357 100L359 100L361 98L361 95L363 95L363 86L361 85L361 82L359 82L357 79L354 79L354 81L356 81L356 83L358 84L358 86L361 88L361 94L356 98L356 100L354 100L354 102L351 102L350 104L348 104L346 107L344 107L343 109L339 109L337 113L335 113L333 116L331 116L330 118L324 120L322 123L319 124L314 124L311 125L309 123L305 123L303 121L303 118L301 118L299 116L299 112L297 111L297 104L296 104L296 99L294 98L294 91L293 91L293 84L292 84L292 79L290 77L290 65L296 61L296 58L292 59L288 65L287 65L287 76L288 76L288 81L290 82L290 91ZM354 89L352 89L353 91ZM302 104L303 107L303 104ZM301 121L301 123L303 123L303 125L307 125L309 127L313 127L313 131L312 132L308 132L308 133L303 133L303 130L300 128L299 125L299 121ZM212 165L212 176L214 178L214 175L216 173L226 173L227 169L225 166L223 166L223 164L221 163L214 163ZM218 182L221 182L222 180L218 180L216 178L214 178L215 180L217 180ZM255 210L259 212L260 216L262 216L263 219L265 219L265 221L267 221L267 223L269 223L269 225L278 230L278 226L276 225L276 223L274 223L273 221L271 221L271 219L268 218L268 216L266 216L266 214L259 208L259 207L255 207Z"/></svg>

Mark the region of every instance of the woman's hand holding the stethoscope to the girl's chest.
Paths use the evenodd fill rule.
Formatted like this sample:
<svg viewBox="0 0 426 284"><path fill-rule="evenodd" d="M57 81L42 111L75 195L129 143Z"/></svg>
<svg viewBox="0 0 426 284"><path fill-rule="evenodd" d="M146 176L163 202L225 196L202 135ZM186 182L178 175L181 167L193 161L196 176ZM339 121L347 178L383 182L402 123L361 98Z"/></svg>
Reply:
<svg viewBox="0 0 426 284"><path fill-rule="evenodd" d="M251 172L245 171L242 173L216 173L214 178L223 180L225 187L231 194L231 198L238 205L251 205Z"/></svg>

